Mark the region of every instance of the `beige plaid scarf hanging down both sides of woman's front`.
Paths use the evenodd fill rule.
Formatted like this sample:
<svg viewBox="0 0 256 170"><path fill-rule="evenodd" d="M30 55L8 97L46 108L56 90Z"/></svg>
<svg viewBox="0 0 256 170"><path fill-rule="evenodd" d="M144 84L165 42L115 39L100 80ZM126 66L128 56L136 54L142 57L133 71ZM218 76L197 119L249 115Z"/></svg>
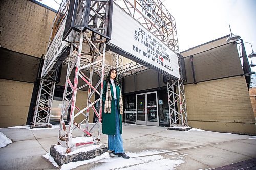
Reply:
<svg viewBox="0 0 256 170"><path fill-rule="evenodd" d="M119 86L118 86L119 87ZM122 100L122 93L121 88L120 90L120 98L119 98L119 113L123 114L123 100ZM111 113L111 91L110 91L110 83L108 82L108 86L106 87L106 101L105 101L105 107L104 107L105 113Z"/></svg>

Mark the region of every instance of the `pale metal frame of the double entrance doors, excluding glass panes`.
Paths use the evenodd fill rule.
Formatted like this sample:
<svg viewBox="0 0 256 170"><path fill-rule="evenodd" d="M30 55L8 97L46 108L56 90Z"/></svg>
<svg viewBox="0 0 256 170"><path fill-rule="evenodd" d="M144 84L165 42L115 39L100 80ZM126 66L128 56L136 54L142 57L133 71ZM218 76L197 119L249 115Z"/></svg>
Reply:
<svg viewBox="0 0 256 170"><path fill-rule="evenodd" d="M157 121L156 122L148 122L147 121L147 114L148 114L148 109L147 109L147 94L152 94L152 93L156 93L156 104L157 104ZM138 121L138 95L144 95L145 96L145 121ZM147 92L147 93L140 93L140 94L136 94L136 124L139 125L152 125L152 126L159 126L159 115L158 115L158 99L157 99L157 91L153 91L153 92Z"/></svg>

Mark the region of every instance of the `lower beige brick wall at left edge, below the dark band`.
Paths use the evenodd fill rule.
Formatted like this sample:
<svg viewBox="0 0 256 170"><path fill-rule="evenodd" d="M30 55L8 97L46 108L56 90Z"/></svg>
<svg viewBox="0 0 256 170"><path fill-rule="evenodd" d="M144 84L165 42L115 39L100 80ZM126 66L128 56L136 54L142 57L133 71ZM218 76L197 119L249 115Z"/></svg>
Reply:
<svg viewBox="0 0 256 170"><path fill-rule="evenodd" d="M0 79L0 127L26 125L33 86Z"/></svg>

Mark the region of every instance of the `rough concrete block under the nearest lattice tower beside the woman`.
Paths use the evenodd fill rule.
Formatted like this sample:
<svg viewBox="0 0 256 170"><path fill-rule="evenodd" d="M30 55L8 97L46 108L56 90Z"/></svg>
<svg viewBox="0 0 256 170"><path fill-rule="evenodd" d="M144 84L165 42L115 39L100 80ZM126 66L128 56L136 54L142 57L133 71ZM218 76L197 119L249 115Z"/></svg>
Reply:
<svg viewBox="0 0 256 170"><path fill-rule="evenodd" d="M82 151L79 153L70 152L69 154L65 154L65 152L60 153L56 146L59 145L52 145L50 148L50 155L53 157L54 161L61 167L63 164L70 163L70 162L77 162L77 161L84 161L88 159L95 158L96 156L100 156L101 154L108 152L107 147L101 144L98 148L94 148L88 151ZM90 147L90 146L89 146ZM86 148L86 147L84 147Z"/></svg>

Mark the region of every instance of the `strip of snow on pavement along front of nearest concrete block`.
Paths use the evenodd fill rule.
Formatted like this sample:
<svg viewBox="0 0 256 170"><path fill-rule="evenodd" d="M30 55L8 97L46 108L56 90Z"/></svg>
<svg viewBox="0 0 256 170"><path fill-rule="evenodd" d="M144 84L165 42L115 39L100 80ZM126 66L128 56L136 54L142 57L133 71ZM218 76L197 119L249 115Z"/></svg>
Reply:
<svg viewBox="0 0 256 170"><path fill-rule="evenodd" d="M81 165L85 165L85 164L88 164L88 163L94 163L94 162L99 161L101 159L109 159L109 158L110 158L110 154L108 152L105 152L102 155L96 156L93 159L88 159L88 160L84 160L84 161L77 161L77 162L70 162L70 163L67 163L67 164L63 164L61 166L61 170L74 169L74 168L76 168L78 166L81 166Z"/></svg>

